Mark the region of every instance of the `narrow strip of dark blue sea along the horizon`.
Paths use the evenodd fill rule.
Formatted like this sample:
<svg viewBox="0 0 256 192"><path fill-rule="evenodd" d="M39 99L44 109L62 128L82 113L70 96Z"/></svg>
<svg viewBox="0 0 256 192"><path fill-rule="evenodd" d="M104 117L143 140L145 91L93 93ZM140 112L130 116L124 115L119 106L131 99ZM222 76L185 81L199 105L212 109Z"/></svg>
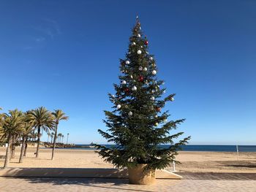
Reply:
<svg viewBox="0 0 256 192"><path fill-rule="evenodd" d="M94 147L89 148L90 145L75 145L72 148L65 149L79 149L79 150L95 150ZM105 145L106 147L113 147L115 145ZM170 145L160 145L160 147L170 147ZM184 151L218 151L218 152L236 152L236 145L184 145L181 147ZM256 145L238 145L239 152L256 152Z"/></svg>

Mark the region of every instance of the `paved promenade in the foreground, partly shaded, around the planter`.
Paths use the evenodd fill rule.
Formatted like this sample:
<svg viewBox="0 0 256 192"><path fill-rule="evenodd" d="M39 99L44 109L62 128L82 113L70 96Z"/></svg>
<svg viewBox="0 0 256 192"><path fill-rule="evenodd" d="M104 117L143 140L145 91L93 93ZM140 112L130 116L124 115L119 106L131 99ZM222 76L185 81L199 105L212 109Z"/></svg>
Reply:
<svg viewBox="0 0 256 192"><path fill-rule="evenodd" d="M157 180L157 183L154 185L129 185L127 179L0 177L0 191L256 191L256 174L184 173L182 176L184 180Z"/></svg>

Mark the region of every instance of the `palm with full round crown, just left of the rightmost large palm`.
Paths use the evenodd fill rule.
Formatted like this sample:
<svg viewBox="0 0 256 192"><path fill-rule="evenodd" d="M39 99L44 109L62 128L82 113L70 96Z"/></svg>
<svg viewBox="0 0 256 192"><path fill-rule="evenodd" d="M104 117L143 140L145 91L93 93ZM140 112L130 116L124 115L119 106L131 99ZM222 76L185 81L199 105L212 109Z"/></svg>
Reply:
<svg viewBox="0 0 256 192"><path fill-rule="evenodd" d="M45 107L38 107L36 110L30 112L30 118L34 121L34 126L37 128L37 155L39 157L40 133L41 128L45 132L49 132L53 128L53 115L46 110Z"/></svg>

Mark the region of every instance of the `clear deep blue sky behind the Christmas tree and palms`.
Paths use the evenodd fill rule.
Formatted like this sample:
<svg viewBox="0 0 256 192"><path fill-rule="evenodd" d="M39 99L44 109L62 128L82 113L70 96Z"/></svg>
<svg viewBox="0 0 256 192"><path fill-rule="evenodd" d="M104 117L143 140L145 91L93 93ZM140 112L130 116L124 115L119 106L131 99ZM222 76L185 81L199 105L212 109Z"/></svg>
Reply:
<svg viewBox="0 0 256 192"><path fill-rule="evenodd" d="M187 119L179 130L190 144L256 145L255 10L249 0L2 0L0 106L64 110L70 142L105 143L97 128L139 15L159 78L177 94L166 110Z"/></svg>

